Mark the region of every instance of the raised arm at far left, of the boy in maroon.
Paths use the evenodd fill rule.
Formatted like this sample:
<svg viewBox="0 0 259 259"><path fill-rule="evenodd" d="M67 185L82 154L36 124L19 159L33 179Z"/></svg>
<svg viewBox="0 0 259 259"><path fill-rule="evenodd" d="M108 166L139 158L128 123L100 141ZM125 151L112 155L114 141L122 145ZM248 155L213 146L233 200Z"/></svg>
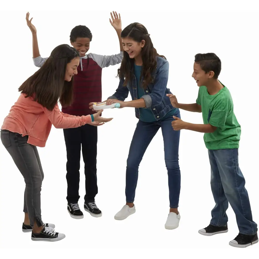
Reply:
<svg viewBox="0 0 259 259"><path fill-rule="evenodd" d="M47 58L42 58L40 56L39 46L38 46L38 39L37 39L37 30L35 26L32 24L32 18L29 20L30 13L26 13L26 21L27 25L30 28L32 32L32 58L34 66L36 67L42 67L44 62L47 60Z"/></svg>

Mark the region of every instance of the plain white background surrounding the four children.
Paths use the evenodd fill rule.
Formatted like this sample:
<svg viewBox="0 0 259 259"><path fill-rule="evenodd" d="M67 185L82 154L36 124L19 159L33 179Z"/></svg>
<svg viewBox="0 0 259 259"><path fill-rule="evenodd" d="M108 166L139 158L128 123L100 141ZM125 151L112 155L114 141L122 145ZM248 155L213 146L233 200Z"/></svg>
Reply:
<svg viewBox="0 0 259 259"><path fill-rule="evenodd" d="M70 44L76 25L90 28L89 53L119 53L117 34L107 11L1 11L1 118L16 102L21 83L37 67L32 61L32 35L26 12L37 28L42 57L59 44ZM154 47L169 61L168 88L181 103L194 103L198 87L191 77L197 53L216 53L222 61L219 80L230 90L234 112L241 124L240 168L246 178L253 218L258 223L258 11L120 11L122 28L132 22L146 26ZM103 100L112 95L119 80L120 65L103 69ZM129 96L127 100L131 100ZM95 101L95 100L92 100ZM182 119L203 123L202 114L181 110ZM33 242L21 231L24 219L25 183L11 156L0 145L0 247L1 248L232 248L228 242L238 234L231 206L227 210L227 234L206 237L198 234L211 219L214 200L210 189L210 165L203 133L182 131L179 147L181 168L180 225L166 230L169 213L167 170L161 130L148 147L139 167L136 213L124 221L114 215L125 204L125 172L128 150L138 120L134 108L111 109L103 117L114 119L98 127L97 206L101 218L85 212L72 219L67 212L66 147L63 130L52 127L45 148L38 148L45 178L42 184L42 219L66 234L58 242ZM2 122L1 122L2 125ZM91 136L89 136L90 138ZM83 209L84 164L81 158L79 205ZM258 244L249 249L258 248Z"/></svg>

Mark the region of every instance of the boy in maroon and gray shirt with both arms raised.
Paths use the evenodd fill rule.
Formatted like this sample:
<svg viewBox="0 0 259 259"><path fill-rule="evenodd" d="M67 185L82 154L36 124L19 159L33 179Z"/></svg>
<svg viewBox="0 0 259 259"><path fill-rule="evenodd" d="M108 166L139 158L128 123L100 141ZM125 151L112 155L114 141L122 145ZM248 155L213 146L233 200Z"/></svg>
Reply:
<svg viewBox="0 0 259 259"><path fill-rule="evenodd" d="M114 17L113 17L114 16ZM123 59L123 46L120 37L121 19L117 13L111 13L110 23L116 30L120 53L103 56L97 54L86 54L92 40L91 31L83 25L78 25L72 29L70 43L80 52L80 64L77 67L77 75L74 76L74 102L69 107L62 107L62 112L75 116L88 115L92 113L89 103L92 100L102 101L102 69L121 63ZM36 67L41 67L47 58L40 56L37 31L31 20L29 13L26 15L27 25L32 32L33 42L33 62ZM102 212L95 204L95 196L98 193L96 176L96 156L97 156L97 127L102 124L86 124L78 128L64 129L64 138L67 149L67 209L70 216L74 219L84 217L78 206L79 196L79 169L82 154L85 164L85 196L84 209L93 217L101 217ZM89 137L90 136L90 137Z"/></svg>

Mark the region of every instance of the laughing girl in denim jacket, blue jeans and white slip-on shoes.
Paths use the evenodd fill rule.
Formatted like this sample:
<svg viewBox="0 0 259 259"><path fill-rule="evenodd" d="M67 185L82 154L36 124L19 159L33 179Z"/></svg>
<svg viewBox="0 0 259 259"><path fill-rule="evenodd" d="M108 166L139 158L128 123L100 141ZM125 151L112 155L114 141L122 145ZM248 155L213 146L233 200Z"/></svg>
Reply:
<svg viewBox="0 0 259 259"><path fill-rule="evenodd" d="M147 29L139 23L128 25L121 38L124 57L118 69L120 78L116 92L106 100L106 105L120 103L120 107L134 107L139 119L131 142L126 169L126 205L115 215L116 220L124 220L135 213L135 189L138 168L142 157L157 133L162 129L164 158L168 172L170 211L165 224L166 229L179 225L178 202L181 186L181 173L178 163L180 132L174 131L173 116L180 117L166 96L169 63L164 56L157 54ZM124 102L130 92L132 101ZM90 103L90 109L92 109Z"/></svg>

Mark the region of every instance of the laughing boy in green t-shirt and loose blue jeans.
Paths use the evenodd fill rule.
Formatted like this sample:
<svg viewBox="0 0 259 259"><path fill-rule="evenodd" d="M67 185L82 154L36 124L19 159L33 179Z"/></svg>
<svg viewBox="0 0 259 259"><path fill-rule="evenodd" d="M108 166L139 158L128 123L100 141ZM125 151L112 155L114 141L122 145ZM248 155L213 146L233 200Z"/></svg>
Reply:
<svg viewBox="0 0 259 259"><path fill-rule="evenodd" d="M190 112L202 112L204 124L187 123L177 117L172 121L174 130L192 130L204 133L205 146L211 165L211 190L215 207L211 222L199 233L211 236L228 231L226 210L228 203L236 215L239 234L229 242L244 248L258 242L257 224L253 221L245 179L239 168L238 148L241 127L233 111L229 90L219 80L221 61L214 53L197 54L192 77L199 87L193 104L179 104L168 94L172 106Z"/></svg>

